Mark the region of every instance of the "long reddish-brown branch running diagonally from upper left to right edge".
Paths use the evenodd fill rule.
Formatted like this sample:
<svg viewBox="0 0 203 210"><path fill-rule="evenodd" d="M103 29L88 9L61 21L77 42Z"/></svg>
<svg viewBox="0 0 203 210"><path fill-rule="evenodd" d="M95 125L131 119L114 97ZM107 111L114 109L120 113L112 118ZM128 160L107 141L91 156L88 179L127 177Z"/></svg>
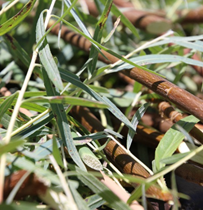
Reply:
<svg viewBox="0 0 203 210"><path fill-rule="evenodd" d="M50 27L53 25L53 21L49 23ZM55 26L51 32L53 34L58 34L59 25ZM62 27L61 37L71 44L89 52L91 43L84 37L70 31L65 26ZM108 58L108 61L99 55L99 59L106 63L115 63L119 59L111 55L110 53L102 50L102 53ZM165 99L176 104L180 109L189 112L190 114L196 116L203 122L203 101L191 93L179 88L173 83L167 81L166 79L152 74L150 72L144 71L140 68L134 67L130 70L121 71L122 74L130 77L163 96Z"/></svg>

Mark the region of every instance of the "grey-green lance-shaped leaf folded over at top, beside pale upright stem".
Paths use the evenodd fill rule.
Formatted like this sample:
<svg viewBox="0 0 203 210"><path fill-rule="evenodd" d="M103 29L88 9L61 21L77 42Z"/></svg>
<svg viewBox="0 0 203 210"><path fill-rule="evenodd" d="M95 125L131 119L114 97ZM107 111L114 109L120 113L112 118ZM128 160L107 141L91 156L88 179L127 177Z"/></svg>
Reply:
<svg viewBox="0 0 203 210"><path fill-rule="evenodd" d="M39 42L40 39L44 36L44 22L43 22L43 12L40 14L39 20L37 22L36 27L36 41ZM59 89L63 89L63 82L61 76L59 74L58 67L54 61L54 58L51 54L51 50L47 43L46 38L44 38L43 42L39 45L39 57L40 60L49 76L49 79L53 82L53 84Z"/></svg>

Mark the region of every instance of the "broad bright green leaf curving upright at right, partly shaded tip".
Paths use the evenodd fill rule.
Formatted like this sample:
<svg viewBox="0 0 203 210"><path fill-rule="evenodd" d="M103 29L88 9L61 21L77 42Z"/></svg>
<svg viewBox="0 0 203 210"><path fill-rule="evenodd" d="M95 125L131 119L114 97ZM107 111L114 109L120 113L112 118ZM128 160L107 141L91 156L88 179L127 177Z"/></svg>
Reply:
<svg viewBox="0 0 203 210"><path fill-rule="evenodd" d="M187 132L193 128L193 126L199 121L196 117L190 115L179 120L176 124L174 124L164 135L164 137L159 142L158 147L155 151L155 164L156 169L160 170L164 167L163 163L160 161L164 158L170 157L175 150L178 148L179 144L184 139L184 135L176 128L176 125L181 126Z"/></svg>

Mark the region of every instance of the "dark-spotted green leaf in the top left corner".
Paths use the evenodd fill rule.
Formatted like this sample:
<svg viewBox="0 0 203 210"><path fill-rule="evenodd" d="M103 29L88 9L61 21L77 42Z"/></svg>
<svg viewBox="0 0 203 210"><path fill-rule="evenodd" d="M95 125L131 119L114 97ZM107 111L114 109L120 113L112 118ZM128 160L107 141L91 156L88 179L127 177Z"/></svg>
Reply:
<svg viewBox="0 0 203 210"><path fill-rule="evenodd" d="M21 21L23 21L29 12L32 10L36 0L30 0L15 16L7 20L5 23L0 25L0 36L8 33Z"/></svg>

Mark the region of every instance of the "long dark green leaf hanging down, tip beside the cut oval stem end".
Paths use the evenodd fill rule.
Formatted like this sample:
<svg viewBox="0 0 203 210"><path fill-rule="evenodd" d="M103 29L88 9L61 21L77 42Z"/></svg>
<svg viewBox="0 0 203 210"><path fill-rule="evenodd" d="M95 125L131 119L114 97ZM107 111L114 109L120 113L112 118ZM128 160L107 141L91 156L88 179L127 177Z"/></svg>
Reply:
<svg viewBox="0 0 203 210"><path fill-rule="evenodd" d="M46 71L43 69L44 84L46 87L47 95L60 95L53 84L51 83ZM63 143L67 146L69 155L73 161L83 170L86 170L79 153L74 145L73 138L71 135L70 127L66 117L66 112L62 104L50 104L53 114L56 118L59 135L63 140Z"/></svg>

